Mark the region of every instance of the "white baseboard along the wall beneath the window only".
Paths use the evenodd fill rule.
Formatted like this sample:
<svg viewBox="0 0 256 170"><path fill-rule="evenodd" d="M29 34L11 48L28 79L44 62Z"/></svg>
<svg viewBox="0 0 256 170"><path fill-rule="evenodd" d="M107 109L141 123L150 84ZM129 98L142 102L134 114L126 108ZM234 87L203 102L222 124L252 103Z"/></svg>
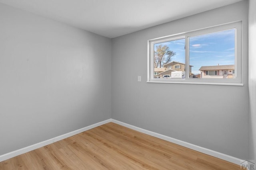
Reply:
<svg viewBox="0 0 256 170"><path fill-rule="evenodd" d="M121 121L118 121L118 120L115 120L115 119L112 119L112 122L113 123L116 123L118 125L122 125L124 127L128 127L130 129L133 129L135 131L139 131L141 133L145 133L147 135L150 135L150 136L153 136L153 137L157 137L159 139L163 139L165 141L169 141L171 143L175 143L177 145L181 145L183 147L186 147L186 148L189 148L189 149L193 149L193 150L196 150L198 152L202 152L204 154L208 154L210 156L214 156L216 158L220 158L222 160L226 160L228 162L232 162L234 164L237 164L237 165L240 165L241 162L244 162L244 160L241 160L239 158L235 158L233 156L229 156L227 154L223 154L223 153L220 153L220 152L216 152L214 150L210 150L210 149L206 149L206 148L203 148L203 147L199 147L197 145L193 145L191 143L187 143L187 142L184 142L184 141L180 141L178 139L174 139L172 137L168 137L168 136L165 136L165 135L161 135L159 133L155 133L155 132L152 132L152 131L148 131L146 129L142 129L140 127L136 127L134 125L129 125L127 123L124 123L124 122L121 122Z"/></svg>

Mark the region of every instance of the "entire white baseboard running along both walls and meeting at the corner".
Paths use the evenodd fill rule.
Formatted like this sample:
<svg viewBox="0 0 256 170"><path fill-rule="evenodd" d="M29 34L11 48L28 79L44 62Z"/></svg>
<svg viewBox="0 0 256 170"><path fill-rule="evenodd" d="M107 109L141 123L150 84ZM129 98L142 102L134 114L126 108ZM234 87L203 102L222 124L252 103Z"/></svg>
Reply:
<svg viewBox="0 0 256 170"><path fill-rule="evenodd" d="M121 122L121 121L118 121L118 120L115 120L115 119L107 119L105 121L101 121L101 122L98 122L98 123L95 123L93 125L90 125L90 126L87 126L87 127L84 127L84 128L81 128L81 129L78 129L78 130L75 130L75 131L72 131L72 132L69 132L69 133L66 133L64 135L60 135L58 137L54 137L52 139L48 139L46 141L42 141L40 143L36 143L34 145L30 145L28 147L25 147L25 148L22 148L22 149L18 149L18 150L14 150L13 152L9 152L7 154L3 154L3 155L0 155L0 162L4 161L4 160L7 160L7 159L10 159L10 158L13 158L15 156L18 156L20 154L24 154L26 152L29 152L31 150L35 150L35 149L38 149L40 147L44 147L46 145L49 145L51 143L54 143L54 142L57 142L57 141L60 141L62 139L65 139L65 138L68 138L68 137L71 137L73 135L76 135L78 133L82 133L84 131L88 131L94 127L98 127L100 125L104 125L106 123L109 123L109 122L113 122L113 123L116 123L116 124L119 124L119 125L122 125L124 127L128 127L130 129L133 129L135 131L139 131L141 133L145 133L147 135L150 135L150 136L153 136L153 137L157 137L159 139L163 139L165 141L169 141L169 142L172 142L172 143L175 143L177 145L181 145L183 147L187 147L189 149L193 149L193 150L196 150L198 152L202 152L204 154L208 154L210 156L214 156L216 158L220 158L220 159L223 159L223 160L226 160L228 162L232 162L234 164L238 164L240 165L241 162L244 162L244 160L241 160L239 158L235 158L233 156L229 156L227 154L223 154L223 153L220 153L220 152L216 152L214 150L210 150L210 149L206 149L206 148L203 148L203 147L199 147L197 145L193 145L191 143L187 143L187 142L184 142L184 141L180 141L178 139L174 139L172 137L168 137L168 136L165 136L165 135L161 135L159 133L155 133L155 132L152 132L152 131L148 131L146 129L142 129L140 127L136 127L136 126L133 126L133 125L129 125L127 123L124 123L124 122Z"/></svg>

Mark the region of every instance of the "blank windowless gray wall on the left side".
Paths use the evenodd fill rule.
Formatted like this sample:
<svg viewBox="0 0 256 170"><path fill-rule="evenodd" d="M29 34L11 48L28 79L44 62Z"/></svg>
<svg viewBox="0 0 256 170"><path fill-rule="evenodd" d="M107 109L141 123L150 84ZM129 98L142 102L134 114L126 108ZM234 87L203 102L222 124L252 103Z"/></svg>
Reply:
<svg viewBox="0 0 256 170"><path fill-rule="evenodd" d="M111 118L111 39L0 4L0 155Z"/></svg>

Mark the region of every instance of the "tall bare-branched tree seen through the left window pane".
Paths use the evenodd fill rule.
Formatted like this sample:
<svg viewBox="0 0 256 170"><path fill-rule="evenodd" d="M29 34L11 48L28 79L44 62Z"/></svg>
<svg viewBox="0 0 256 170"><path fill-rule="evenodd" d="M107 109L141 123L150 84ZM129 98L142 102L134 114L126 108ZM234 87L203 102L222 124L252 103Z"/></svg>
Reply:
<svg viewBox="0 0 256 170"><path fill-rule="evenodd" d="M154 51L154 68L161 68L164 64L170 63L175 52L170 51L167 45L157 45Z"/></svg>

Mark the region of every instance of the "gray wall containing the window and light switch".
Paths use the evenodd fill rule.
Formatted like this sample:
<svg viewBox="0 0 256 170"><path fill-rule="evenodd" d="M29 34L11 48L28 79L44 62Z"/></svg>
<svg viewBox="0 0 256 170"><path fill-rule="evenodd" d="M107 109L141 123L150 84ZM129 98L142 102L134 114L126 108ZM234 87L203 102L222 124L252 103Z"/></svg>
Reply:
<svg viewBox="0 0 256 170"><path fill-rule="evenodd" d="M148 39L238 20L243 21L244 86L146 83ZM248 2L112 39L112 118L246 159Z"/></svg>

